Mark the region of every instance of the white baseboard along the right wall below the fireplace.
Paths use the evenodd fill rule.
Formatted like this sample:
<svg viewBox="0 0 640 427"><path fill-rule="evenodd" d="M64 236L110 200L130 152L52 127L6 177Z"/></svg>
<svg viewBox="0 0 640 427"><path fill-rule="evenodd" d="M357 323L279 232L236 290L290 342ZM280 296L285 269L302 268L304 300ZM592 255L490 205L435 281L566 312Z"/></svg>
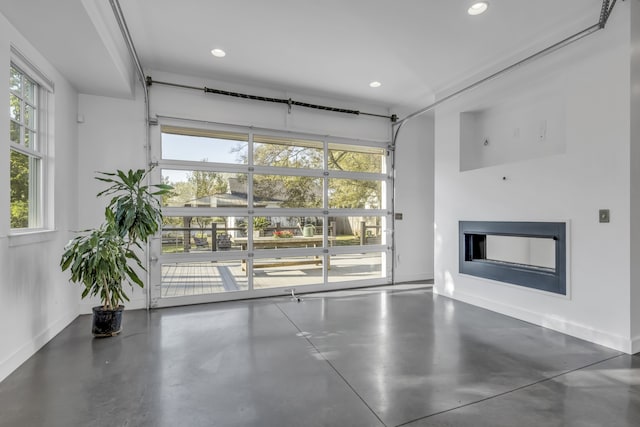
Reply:
<svg viewBox="0 0 640 427"><path fill-rule="evenodd" d="M434 287L433 291L436 294L439 293L436 287ZM588 325L575 323L567 319L561 319L557 316L550 316L544 313L530 311L522 307L516 307L501 302L488 300L460 291L454 291L451 295L445 293L439 294L487 310L495 311L496 313L514 317L519 320L524 320L525 322L533 323L534 325L552 329L557 332L562 332L563 334L571 335L573 337L580 338L594 344L609 347L623 353L633 354L634 352L640 351L640 336L636 337L633 340L630 340L625 337L614 335Z"/></svg>

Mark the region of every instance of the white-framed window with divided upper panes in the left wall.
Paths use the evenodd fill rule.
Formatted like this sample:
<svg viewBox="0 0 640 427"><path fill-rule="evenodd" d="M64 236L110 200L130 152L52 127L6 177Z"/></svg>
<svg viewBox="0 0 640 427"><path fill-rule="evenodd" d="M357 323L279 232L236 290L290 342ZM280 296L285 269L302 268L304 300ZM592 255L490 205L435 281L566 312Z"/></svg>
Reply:
<svg viewBox="0 0 640 427"><path fill-rule="evenodd" d="M24 70L9 68L10 224L12 230L44 227L46 91Z"/></svg>

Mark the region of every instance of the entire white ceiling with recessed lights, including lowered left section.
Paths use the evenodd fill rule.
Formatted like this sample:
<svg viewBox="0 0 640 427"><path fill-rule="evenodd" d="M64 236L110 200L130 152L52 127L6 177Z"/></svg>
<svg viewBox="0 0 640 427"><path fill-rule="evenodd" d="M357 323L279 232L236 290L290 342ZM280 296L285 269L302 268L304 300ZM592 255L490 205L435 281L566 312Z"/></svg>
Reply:
<svg viewBox="0 0 640 427"><path fill-rule="evenodd" d="M119 1L145 70L414 108L596 23L602 5L489 0L473 17L472 0ZM0 12L80 92L130 95L107 0L3 0Z"/></svg>

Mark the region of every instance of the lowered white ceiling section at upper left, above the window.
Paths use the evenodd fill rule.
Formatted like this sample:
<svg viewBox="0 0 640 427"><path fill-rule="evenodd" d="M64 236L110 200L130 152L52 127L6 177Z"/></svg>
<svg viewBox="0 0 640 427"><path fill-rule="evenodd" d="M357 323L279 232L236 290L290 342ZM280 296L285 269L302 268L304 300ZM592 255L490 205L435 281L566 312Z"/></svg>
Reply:
<svg viewBox="0 0 640 427"><path fill-rule="evenodd" d="M107 0L1 0L0 13L78 91L131 96L131 60Z"/></svg>

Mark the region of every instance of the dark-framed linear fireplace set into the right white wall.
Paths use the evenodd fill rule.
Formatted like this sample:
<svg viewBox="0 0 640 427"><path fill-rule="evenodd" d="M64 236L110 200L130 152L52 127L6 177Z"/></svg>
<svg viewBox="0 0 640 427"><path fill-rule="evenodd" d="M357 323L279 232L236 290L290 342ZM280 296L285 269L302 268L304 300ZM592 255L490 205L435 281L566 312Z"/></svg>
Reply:
<svg viewBox="0 0 640 427"><path fill-rule="evenodd" d="M459 222L460 273L566 295L566 223Z"/></svg>

